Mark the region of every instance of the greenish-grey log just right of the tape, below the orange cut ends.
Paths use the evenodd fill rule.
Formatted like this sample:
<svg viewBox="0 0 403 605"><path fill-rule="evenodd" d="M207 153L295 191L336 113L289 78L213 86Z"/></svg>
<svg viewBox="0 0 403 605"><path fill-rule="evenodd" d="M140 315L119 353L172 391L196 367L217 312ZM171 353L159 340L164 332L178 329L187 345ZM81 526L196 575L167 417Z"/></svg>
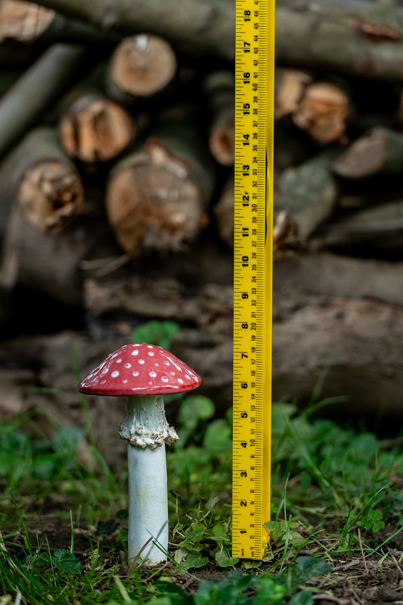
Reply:
<svg viewBox="0 0 403 605"><path fill-rule="evenodd" d="M274 200L274 252L306 244L315 229L330 216L337 186L330 162L337 151L322 152L297 168L286 169Z"/></svg>

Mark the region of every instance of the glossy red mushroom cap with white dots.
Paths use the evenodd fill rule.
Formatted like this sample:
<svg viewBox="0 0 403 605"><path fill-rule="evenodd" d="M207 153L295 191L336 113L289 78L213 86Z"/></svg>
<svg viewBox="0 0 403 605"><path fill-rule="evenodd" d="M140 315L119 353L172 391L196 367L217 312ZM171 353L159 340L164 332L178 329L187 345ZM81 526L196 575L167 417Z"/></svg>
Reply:
<svg viewBox="0 0 403 605"><path fill-rule="evenodd" d="M192 391L200 384L200 376L175 355L141 342L108 355L78 388L89 395L164 395Z"/></svg>

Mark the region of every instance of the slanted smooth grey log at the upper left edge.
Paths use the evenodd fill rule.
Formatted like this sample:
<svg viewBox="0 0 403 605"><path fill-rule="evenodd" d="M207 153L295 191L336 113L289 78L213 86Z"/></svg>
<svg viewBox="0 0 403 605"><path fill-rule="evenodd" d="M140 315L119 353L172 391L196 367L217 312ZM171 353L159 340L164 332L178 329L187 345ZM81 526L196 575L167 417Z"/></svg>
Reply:
<svg viewBox="0 0 403 605"><path fill-rule="evenodd" d="M55 44L0 99L0 155L76 77L84 54L83 47Z"/></svg>

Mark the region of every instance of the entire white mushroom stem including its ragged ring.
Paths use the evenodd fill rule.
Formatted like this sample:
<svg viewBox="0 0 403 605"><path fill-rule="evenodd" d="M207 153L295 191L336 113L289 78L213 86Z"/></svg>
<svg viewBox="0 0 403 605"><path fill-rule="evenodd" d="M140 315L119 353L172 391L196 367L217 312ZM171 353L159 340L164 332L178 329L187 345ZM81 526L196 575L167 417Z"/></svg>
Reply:
<svg viewBox="0 0 403 605"><path fill-rule="evenodd" d="M127 397L119 437L127 439L129 463L129 562L141 552L149 566L167 560L168 497L165 444L178 440L165 417L162 395ZM153 544L158 541L160 548Z"/></svg>

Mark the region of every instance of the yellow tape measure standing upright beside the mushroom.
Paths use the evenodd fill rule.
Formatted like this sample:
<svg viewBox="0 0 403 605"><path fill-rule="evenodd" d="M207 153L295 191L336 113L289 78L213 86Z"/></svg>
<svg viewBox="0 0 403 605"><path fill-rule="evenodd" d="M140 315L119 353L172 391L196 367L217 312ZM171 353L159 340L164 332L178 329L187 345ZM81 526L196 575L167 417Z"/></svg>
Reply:
<svg viewBox="0 0 403 605"><path fill-rule="evenodd" d="M236 0L235 86L232 552L260 559L270 519L274 0Z"/></svg>

